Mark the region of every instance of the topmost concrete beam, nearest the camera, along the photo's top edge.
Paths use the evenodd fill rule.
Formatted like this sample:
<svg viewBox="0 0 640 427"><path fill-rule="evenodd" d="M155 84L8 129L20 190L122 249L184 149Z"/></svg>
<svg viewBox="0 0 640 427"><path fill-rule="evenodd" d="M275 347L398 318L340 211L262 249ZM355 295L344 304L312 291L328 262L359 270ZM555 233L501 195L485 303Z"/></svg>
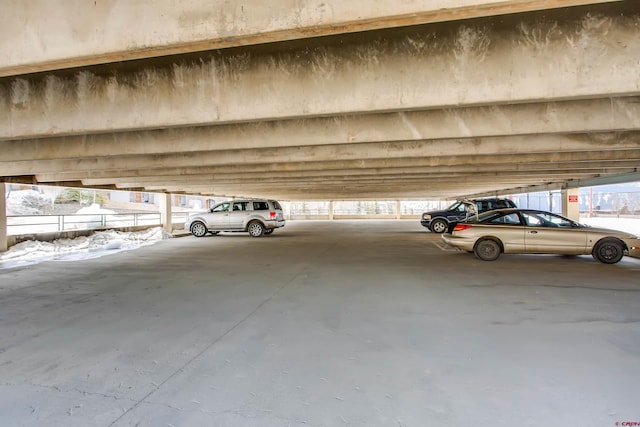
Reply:
<svg viewBox="0 0 640 427"><path fill-rule="evenodd" d="M607 0L5 0L0 77ZM65 3L68 3L65 5Z"/></svg>

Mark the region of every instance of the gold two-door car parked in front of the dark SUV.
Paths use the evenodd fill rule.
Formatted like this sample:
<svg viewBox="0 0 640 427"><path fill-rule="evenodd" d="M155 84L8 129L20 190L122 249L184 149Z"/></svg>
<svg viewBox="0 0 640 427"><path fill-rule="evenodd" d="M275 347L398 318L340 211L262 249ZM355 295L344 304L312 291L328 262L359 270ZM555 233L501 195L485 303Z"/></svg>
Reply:
<svg viewBox="0 0 640 427"><path fill-rule="evenodd" d="M473 252L483 261L505 254L593 255L615 264L640 248L631 233L595 228L563 216L533 209L498 209L451 224L442 240Z"/></svg>

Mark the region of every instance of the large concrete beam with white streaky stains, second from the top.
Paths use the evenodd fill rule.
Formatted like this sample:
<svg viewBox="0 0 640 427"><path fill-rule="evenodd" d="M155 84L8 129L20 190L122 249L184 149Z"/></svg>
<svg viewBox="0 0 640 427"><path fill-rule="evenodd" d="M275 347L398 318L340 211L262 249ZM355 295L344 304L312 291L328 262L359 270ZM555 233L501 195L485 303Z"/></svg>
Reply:
<svg viewBox="0 0 640 427"><path fill-rule="evenodd" d="M510 26L465 21L131 72L4 79L0 138L638 95L639 23L587 11L518 16Z"/></svg>

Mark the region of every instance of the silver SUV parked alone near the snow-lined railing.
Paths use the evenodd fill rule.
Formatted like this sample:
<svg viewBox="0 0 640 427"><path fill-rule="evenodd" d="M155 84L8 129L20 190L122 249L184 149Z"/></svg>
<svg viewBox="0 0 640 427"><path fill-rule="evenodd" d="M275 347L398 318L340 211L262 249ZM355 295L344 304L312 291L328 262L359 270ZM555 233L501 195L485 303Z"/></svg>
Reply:
<svg viewBox="0 0 640 427"><path fill-rule="evenodd" d="M284 227L282 206L275 200L246 199L222 202L208 212L189 215L184 225L196 237L221 231L248 231L253 237Z"/></svg>

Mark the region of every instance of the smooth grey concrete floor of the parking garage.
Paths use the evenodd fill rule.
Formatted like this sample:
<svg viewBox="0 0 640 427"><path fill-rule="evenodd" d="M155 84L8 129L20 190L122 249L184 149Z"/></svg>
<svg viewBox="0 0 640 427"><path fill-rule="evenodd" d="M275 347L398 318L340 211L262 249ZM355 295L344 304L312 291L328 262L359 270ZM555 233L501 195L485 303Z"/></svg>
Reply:
<svg viewBox="0 0 640 427"><path fill-rule="evenodd" d="M640 260L290 222L0 270L2 426L640 421Z"/></svg>

